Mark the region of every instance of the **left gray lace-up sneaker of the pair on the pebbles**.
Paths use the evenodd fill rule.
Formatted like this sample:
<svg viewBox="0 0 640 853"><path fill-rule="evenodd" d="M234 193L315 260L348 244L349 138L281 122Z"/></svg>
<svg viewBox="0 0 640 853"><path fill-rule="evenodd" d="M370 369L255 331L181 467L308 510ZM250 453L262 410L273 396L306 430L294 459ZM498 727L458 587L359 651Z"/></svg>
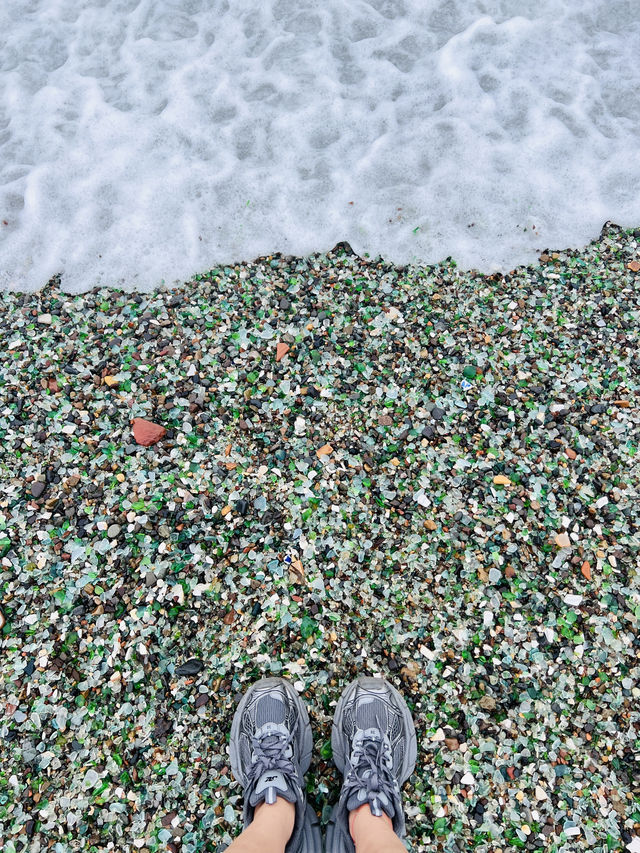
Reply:
<svg viewBox="0 0 640 853"><path fill-rule="evenodd" d="M284 678L263 678L252 684L231 724L231 769L244 789L245 828L259 803L283 797L295 805L286 853L322 851L320 822L305 794L304 774L312 748L309 716L294 687Z"/></svg>

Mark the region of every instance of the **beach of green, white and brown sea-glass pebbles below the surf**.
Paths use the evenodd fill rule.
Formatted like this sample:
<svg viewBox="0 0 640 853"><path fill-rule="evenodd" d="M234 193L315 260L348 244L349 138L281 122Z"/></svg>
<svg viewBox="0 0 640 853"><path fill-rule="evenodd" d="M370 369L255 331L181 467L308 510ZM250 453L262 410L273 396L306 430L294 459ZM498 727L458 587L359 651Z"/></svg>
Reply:
<svg viewBox="0 0 640 853"><path fill-rule="evenodd" d="M264 674L324 821L370 673L415 715L414 850L639 844L639 238L0 294L4 853L228 843Z"/></svg>

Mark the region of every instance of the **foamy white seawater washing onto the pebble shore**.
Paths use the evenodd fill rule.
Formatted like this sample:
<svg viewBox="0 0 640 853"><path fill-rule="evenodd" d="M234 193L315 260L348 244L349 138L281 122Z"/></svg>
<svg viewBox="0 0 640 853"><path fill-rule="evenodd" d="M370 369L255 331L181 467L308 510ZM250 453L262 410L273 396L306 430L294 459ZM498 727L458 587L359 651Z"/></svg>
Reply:
<svg viewBox="0 0 640 853"><path fill-rule="evenodd" d="M0 287L640 224L638 0L2 0Z"/></svg>

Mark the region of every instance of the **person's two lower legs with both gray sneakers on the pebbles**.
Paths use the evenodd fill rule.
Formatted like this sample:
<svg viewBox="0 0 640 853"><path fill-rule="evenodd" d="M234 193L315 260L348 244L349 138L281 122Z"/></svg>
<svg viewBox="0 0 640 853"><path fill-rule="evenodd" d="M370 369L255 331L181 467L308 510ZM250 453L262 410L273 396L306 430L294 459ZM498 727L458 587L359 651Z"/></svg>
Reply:
<svg viewBox="0 0 640 853"><path fill-rule="evenodd" d="M267 678L249 688L229 746L245 829L228 853L322 853L304 782L312 745L306 708L289 682ZM344 779L327 853L403 853L400 785L413 771L416 739L402 696L384 679L352 682L336 707L331 746Z"/></svg>

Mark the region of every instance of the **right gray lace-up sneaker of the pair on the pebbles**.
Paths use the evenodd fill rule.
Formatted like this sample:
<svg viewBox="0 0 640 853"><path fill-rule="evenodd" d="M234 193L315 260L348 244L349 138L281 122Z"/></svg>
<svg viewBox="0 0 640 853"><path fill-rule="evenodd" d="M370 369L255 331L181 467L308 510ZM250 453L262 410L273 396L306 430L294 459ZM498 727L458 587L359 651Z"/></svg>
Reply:
<svg viewBox="0 0 640 853"><path fill-rule="evenodd" d="M349 812L365 803L374 815L387 814L403 838L400 786L413 772L417 747L411 713L395 687L383 678L353 681L338 702L331 747L344 781L327 827L327 853L355 851Z"/></svg>

